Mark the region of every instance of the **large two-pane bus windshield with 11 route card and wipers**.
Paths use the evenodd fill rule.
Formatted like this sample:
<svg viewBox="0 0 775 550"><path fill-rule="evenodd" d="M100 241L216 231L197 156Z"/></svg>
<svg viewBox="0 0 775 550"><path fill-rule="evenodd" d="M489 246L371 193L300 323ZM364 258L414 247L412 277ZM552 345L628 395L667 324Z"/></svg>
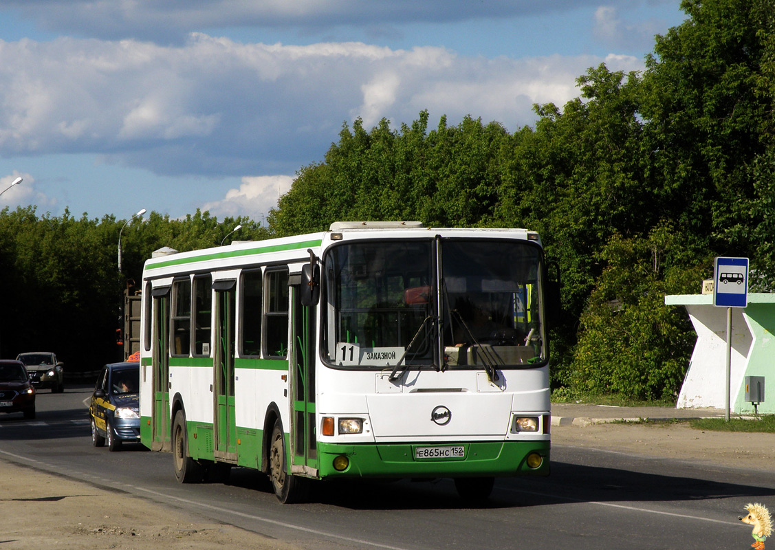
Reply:
<svg viewBox="0 0 775 550"><path fill-rule="evenodd" d="M541 259L518 240L334 246L323 259L324 358L375 370L543 364Z"/></svg>

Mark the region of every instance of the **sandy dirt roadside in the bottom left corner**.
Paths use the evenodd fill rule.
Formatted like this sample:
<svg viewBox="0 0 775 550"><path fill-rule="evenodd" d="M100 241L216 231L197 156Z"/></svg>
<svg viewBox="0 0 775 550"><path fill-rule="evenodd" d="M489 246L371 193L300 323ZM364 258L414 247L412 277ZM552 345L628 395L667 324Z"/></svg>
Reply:
<svg viewBox="0 0 775 550"><path fill-rule="evenodd" d="M297 550L282 541L0 461L0 548Z"/></svg>

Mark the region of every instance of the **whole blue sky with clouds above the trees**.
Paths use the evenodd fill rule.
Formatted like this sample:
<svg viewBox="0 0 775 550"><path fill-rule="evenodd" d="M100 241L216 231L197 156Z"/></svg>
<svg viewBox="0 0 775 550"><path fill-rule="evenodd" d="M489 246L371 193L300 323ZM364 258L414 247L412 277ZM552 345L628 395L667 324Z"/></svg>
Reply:
<svg viewBox="0 0 775 550"><path fill-rule="evenodd" d="M261 220L343 123L509 131L642 70L678 0L3 0L0 208Z"/></svg>

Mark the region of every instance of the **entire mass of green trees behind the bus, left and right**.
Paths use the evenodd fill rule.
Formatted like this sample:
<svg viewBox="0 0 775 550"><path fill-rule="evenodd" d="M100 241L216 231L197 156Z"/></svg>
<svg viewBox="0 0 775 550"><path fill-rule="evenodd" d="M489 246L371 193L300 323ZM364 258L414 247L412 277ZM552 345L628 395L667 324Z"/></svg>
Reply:
<svg viewBox="0 0 775 550"><path fill-rule="evenodd" d="M714 256L749 256L752 290L775 287L775 0L684 0L688 19L657 36L642 74L605 65L566 105L536 105L509 132L427 112L391 128L343 125L325 159L302 167L269 229L151 214L123 232L125 274L153 249L327 229L338 220L539 231L562 278L552 383L565 395L670 399L694 331L665 294L694 294ZM0 214L3 356L51 348L70 362L117 353L125 220ZM64 330L66 327L67 330ZM52 342L52 343L50 343Z"/></svg>

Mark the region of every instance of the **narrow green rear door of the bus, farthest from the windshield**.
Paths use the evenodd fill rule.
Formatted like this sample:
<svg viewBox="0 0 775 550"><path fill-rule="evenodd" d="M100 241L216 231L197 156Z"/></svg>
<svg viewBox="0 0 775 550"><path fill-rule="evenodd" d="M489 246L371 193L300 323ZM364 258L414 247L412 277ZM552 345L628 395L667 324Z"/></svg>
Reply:
<svg viewBox="0 0 775 550"><path fill-rule="evenodd" d="M166 290L166 293L164 292ZM169 288L160 289L153 296L153 413L151 421L151 449L171 450L170 430L170 354L167 349L167 335L170 323Z"/></svg>

